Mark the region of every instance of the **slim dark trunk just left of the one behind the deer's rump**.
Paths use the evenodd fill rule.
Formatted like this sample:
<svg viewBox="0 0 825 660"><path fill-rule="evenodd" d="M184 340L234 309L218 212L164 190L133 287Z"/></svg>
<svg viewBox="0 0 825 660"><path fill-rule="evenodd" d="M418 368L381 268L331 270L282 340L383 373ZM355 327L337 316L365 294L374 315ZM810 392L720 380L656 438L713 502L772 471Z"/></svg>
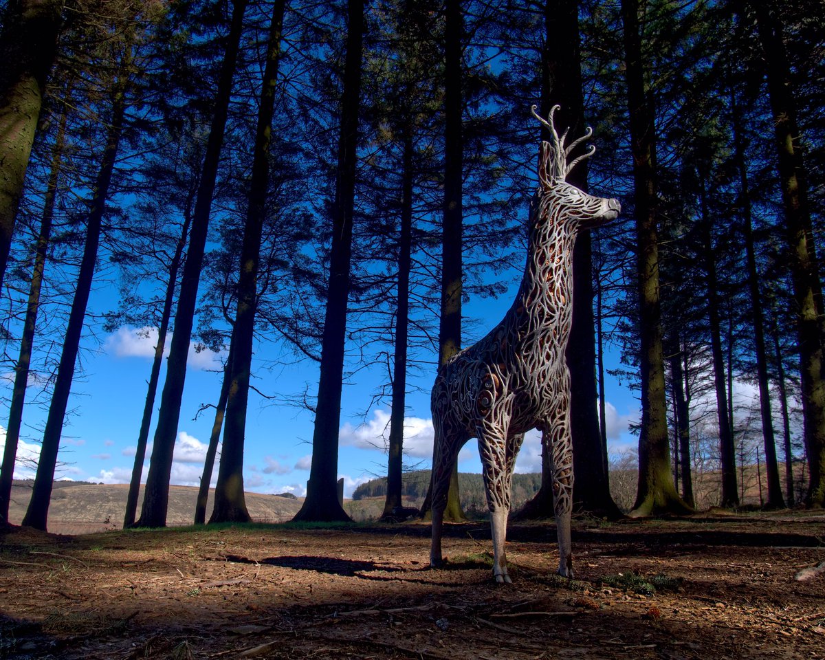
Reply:
<svg viewBox="0 0 825 660"><path fill-rule="evenodd" d="M403 506L404 409L407 398L407 342L410 307L410 270L413 265L413 132L403 131L403 169L401 172L401 233L398 239L398 308L395 310L395 355L393 361L393 403L389 413L389 450L387 497L384 518Z"/></svg>

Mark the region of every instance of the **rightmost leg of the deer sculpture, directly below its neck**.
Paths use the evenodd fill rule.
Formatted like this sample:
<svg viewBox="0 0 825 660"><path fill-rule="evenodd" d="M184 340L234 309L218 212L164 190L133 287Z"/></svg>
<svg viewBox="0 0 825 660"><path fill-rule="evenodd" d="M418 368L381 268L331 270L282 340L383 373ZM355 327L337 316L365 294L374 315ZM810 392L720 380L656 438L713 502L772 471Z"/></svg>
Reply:
<svg viewBox="0 0 825 660"><path fill-rule="evenodd" d="M573 441L570 436L569 409L563 407L544 430L549 443L550 471L553 475L553 506L559 537L559 575L573 577L573 544L570 517L573 511Z"/></svg>

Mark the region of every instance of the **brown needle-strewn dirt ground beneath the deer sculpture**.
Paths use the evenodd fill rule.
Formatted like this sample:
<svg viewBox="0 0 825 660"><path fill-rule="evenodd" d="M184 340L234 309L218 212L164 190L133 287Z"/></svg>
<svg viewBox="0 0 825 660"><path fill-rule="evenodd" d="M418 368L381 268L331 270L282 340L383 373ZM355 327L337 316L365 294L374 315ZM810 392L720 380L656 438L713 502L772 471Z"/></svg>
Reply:
<svg viewBox="0 0 825 660"><path fill-rule="evenodd" d="M0 533L0 658L825 658L825 515ZM821 570L817 570L820 568ZM807 579L806 579L807 578Z"/></svg>

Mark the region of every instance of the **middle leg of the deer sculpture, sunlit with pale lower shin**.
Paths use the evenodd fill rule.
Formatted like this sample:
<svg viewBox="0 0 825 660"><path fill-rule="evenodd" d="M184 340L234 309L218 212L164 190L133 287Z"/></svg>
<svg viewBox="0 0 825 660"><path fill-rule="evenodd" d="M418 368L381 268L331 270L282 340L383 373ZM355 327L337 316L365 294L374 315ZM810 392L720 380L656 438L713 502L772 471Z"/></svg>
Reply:
<svg viewBox="0 0 825 660"><path fill-rule="evenodd" d="M509 419L497 423L485 423L478 429L479 455L483 468L484 491L490 511L490 531L493 536L493 577L496 582L510 583L507 574L507 516L510 513L512 469L516 462L516 450L512 451L513 439L507 441Z"/></svg>

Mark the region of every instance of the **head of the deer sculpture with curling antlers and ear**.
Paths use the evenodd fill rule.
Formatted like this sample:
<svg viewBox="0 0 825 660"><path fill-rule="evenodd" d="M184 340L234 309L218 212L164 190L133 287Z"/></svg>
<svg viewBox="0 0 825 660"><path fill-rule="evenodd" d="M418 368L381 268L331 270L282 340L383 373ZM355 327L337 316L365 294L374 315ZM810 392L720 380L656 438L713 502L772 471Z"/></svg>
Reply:
<svg viewBox="0 0 825 660"><path fill-rule="evenodd" d="M619 200L588 195L567 182L568 174L573 170L573 167L596 153L596 147L591 144L585 153L573 158L573 160L568 159L579 144L590 139L593 134L592 128L588 126L587 131L580 138L574 139L570 144L565 144L569 129L564 130L559 138L553 120L553 115L555 111L559 110L559 106L553 106L550 109L547 120L544 120L535 110L536 106L530 108L533 116L549 130L552 137L551 142L546 140L541 142L539 157L540 196L552 196L556 205L559 206L560 214L565 219L574 221L575 229L588 229L616 219L621 211Z"/></svg>

